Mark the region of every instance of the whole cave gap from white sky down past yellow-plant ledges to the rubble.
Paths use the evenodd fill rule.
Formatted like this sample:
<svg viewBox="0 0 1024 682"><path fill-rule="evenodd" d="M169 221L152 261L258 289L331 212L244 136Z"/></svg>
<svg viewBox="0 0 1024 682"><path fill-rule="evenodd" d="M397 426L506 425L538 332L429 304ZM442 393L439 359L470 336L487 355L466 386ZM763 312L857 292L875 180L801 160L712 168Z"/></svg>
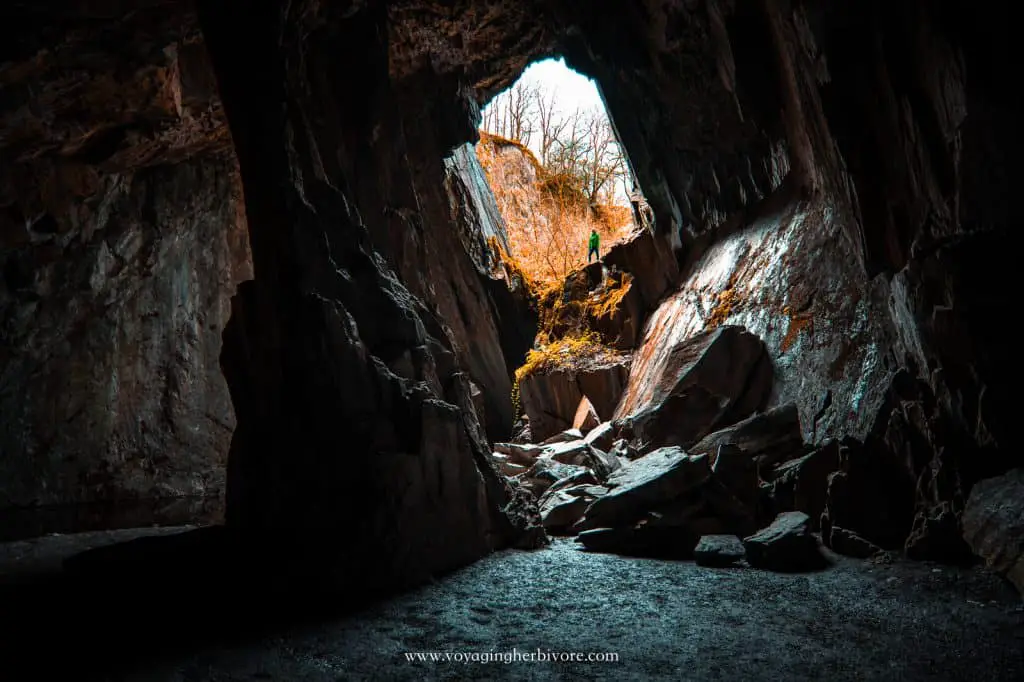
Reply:
<svg viewBox="0 0 1024 682"><path fill-rule="evenodd" d="M501 257L538 312L532 347L515 371L513 432L530 442L558 431L571 439L586 427L571 415L542 420L549 411L538 408L545 389L537 386L554 370L574 377L610 368L595 374L603 377L625 367L638 341L639 291L615 245L652 228L652 212L597 83L564 58L531 63L481 119L476 156L504 223ZM592 426L610 420L616 402L603 384L563 397Z"/></svg>

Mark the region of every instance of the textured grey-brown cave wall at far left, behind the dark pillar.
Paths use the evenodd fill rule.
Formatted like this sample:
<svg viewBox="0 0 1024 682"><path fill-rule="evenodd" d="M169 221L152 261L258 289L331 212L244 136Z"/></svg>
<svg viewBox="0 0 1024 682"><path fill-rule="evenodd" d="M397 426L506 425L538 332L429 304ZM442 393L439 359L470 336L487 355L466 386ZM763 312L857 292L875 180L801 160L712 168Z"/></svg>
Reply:
<svg viewBox="0 0 1024 682"><path fill-rule="evenodd" d="M5 538L216 519L234 427L248 236L195 17L67 18L0 68Z"/></svg>

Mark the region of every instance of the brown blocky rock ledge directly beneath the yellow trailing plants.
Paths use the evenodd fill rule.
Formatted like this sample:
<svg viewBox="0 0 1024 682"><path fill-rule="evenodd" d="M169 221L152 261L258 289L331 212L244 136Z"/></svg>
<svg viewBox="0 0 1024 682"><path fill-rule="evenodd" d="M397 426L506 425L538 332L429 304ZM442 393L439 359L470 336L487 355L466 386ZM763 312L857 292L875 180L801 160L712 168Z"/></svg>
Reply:
<svg viewBox="0 0 1024 682"><path fill-rule="evenodd" d="M535 440L571 428L584 395L598 415L611 415L626 388L629 356L597 358L585 369L536 372L519 382L519 398Z"/></svg>

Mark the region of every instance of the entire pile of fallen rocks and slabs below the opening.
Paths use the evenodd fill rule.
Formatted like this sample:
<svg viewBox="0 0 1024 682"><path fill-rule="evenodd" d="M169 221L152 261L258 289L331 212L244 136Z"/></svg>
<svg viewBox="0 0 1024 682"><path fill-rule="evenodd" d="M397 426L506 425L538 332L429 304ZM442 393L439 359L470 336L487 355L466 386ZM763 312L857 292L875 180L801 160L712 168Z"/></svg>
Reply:
<svg viewBox="0 0 1024 682"><path fill-rule="evenodd" d="M765 409L765 353L739 327L692 337L632 414L611 419L584 395L571 428L496 443L495 461L537 497L549 534L588 550L820 567L814 532L840 449L806 445L796 406Z"/></svg>

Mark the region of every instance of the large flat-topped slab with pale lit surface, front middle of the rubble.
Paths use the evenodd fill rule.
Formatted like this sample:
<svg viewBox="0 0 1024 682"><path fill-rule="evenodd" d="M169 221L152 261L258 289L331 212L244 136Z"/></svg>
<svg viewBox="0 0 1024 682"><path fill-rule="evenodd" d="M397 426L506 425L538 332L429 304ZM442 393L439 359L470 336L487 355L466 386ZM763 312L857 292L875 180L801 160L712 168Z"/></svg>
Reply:
<svg viewBox="0 0 1024 682"><path fill-rule="evenodd" d="M591 505L580 529L635 521L645 511L681 498L710 475L707 456L692 457L680 447L657 450L608 477L611 491Z"/></svg>

